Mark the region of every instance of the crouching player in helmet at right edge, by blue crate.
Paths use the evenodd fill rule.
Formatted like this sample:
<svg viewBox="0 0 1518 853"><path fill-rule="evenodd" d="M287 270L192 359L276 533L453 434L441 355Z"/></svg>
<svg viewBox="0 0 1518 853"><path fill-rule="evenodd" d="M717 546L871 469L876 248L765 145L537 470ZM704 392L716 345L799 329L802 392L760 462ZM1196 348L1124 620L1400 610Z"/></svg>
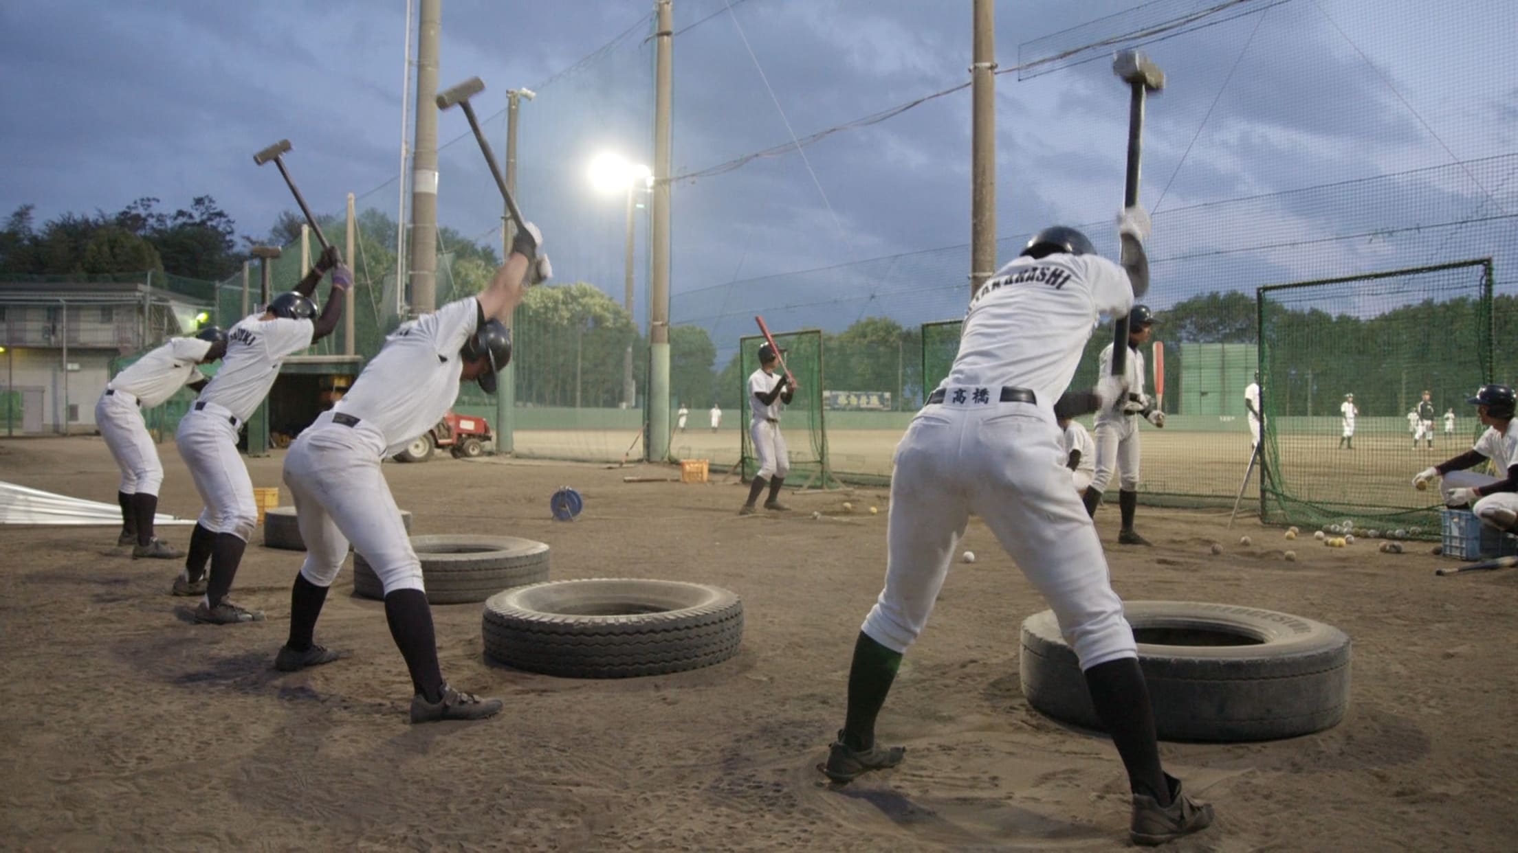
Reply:
<svg viewBox="0 0 1518 853"><path fill-rule="evenodd" d="M1466 399L1486 431L1463 454L1427 467L1413 477L1413 487L1444 478L1441 490L1450 507L1469 505L1479 519L1498 530L1518 528L1518 420L1513 419L1513 390L1509 386L1482 386ZM1501 477L1466 471L1491 460Z"/></svg>

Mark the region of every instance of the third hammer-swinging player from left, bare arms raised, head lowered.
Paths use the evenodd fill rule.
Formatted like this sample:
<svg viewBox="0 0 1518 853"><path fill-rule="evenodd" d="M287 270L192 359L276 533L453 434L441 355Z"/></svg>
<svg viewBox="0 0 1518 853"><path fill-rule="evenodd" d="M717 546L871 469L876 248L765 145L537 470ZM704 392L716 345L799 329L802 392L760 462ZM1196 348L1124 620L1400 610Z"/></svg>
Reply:
<svg viewBox="0 0 1518 853"><path fill-rule="evenodd" d="M443 680L422 563L380 463L437 423L461 381L475 379L495 393L496 375L512 360L501 317L521 302L530 266L534 282L551 275L546 255L533 260L540 243L528 225L484 291L392 332L343 399L290 445L284 480L307 549L290 590L290 637L275 657L276 669L293 672L340 657L316 645L313 634L352 542L384 584L386 621L414 688L411 722L481 719L501 710L501 700L458 692Z"/></svg>

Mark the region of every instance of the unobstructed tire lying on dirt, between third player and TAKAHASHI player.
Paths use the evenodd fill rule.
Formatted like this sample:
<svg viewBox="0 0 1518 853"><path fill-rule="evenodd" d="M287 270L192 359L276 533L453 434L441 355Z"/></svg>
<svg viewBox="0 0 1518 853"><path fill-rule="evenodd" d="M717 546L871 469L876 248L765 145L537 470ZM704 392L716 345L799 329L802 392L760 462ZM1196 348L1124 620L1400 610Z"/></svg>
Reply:
<svg viewBox="0 0 1518 853"><path fill-rule="evenodd" d="M594 578L539 583L484 606L486 657L548 675L628 678L738 654L744 604L698 583Z"/></svg>

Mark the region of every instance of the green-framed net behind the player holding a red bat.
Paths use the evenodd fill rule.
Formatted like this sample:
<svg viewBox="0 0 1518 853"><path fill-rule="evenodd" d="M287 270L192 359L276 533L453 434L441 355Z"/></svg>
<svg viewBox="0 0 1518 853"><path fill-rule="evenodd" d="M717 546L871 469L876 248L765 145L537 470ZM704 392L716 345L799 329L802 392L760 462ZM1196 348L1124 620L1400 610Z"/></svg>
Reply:
<svg viewBox="0 0 1518 853"><path fill-rule="evenodd" d="M832 484L832 474L827 466L827 433L823 414L823 332L798 331L776 334L774 342L783 351L785 369L795 376L800 392L785 405L780 414L780 434L785 437L786 451L791 460L791 474L785 481L794 489L824 489ZM748 395L748 376L759 370L759 346L765 343L764 335L744 337L738 342L739 375L742 384L739 393L742 402L738 407L738 419L742 426L742 478L747 481L759 472L759 457L754 452L753 437L748 425L753 417L751 398ZM777 369L779 370L779 369ZM672 442L680 443L682 434L677 431ZM701 458L704 454L686 445L680 448L683 458ZM686 455L691 454L691 455Z"/></svg>

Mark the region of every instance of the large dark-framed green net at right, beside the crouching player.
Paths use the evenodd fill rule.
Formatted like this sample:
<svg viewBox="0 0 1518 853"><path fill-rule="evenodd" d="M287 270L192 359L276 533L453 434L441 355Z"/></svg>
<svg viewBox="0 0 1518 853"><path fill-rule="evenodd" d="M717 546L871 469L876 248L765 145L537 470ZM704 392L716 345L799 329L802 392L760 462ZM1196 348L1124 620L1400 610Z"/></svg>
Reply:
<svg viewBox="0 0 1518 853"><path fill-rule="evenodd" d="M1485 430L1465 401L1492 376L1492 278L1477 260L1258 290L1264 521L1439 536L1438 492L1410 483Z"/></svg>

